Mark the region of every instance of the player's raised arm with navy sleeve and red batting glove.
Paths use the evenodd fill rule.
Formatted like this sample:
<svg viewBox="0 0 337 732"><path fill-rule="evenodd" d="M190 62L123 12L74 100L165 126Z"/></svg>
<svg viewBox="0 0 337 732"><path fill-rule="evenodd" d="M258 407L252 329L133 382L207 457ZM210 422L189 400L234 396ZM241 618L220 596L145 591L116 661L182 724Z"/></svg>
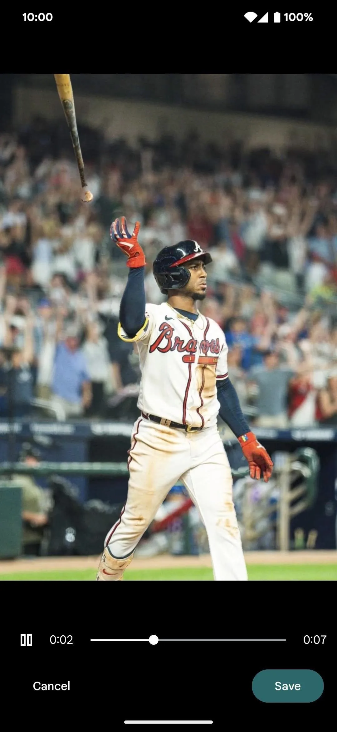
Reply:
<svg viewBox="0 0 337 732"><path fill-rule="evenodd" d="M139 332L146 327L147 321L144 289L145 255L137 239L139 229L140 223L136 221L133 233L129 234L124 216L120 221L116 219L110 228L112 241L126 254L128 257L126 264L130 267L128 282L120 301L120 326L118 328L118 335L122 340L129 341L136 340Z"/></svg>

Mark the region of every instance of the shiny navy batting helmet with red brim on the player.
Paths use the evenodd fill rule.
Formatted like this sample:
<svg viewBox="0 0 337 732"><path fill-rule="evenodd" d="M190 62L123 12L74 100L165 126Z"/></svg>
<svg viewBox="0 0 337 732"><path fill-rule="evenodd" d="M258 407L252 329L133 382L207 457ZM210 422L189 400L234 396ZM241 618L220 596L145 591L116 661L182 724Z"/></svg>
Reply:
<svg viewBox="0 0 337 732"><path fill-rule="evenodd" d="M212 262L208 252L204 252L197 242L187 239L178 242L174 247L164 247L153 262L153 275L160 288L160 292L167 294L168 290L179 290L187 285L190 279L190 270L184 264L190 259L200 258L205 264Z"/></svg>

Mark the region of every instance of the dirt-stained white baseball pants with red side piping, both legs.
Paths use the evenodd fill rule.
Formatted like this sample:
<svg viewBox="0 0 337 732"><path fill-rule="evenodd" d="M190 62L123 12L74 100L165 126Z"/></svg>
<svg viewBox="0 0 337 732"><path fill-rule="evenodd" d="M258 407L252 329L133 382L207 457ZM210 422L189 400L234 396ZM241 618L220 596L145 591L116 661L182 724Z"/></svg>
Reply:
<svg viewBox="0 0 337 732"><path fill-rule="evenodd" d="M181 480L206 528L214 579L247 580L231 467L216 425L187 433L139 417L128 467L125 507L104 542L113 557L133 553L169 490Z"/></svg>

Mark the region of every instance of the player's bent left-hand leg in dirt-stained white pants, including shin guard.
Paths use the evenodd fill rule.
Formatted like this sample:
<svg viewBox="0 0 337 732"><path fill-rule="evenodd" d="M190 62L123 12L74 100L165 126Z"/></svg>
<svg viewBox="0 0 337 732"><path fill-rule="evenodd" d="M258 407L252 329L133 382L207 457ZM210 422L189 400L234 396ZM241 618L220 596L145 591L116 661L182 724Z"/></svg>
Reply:
<svg viewBox="0 0 337 732"><path fill-rule="evenodd" d="M133 559L136 545L155 518L168 491L190 466L185 432L139 419L133 427L128 468L128 497L106 534L98 580L120 580Z"/></svg>

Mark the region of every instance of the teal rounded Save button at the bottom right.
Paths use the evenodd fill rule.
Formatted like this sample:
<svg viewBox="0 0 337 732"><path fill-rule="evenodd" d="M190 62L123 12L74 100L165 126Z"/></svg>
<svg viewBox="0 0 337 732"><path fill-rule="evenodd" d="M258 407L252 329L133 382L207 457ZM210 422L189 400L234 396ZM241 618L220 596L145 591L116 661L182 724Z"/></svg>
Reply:
<svg viewBox="0 0 337 732"><path fill-rule="evenodd" d="M270 669L260 671L252 680L252 692L260 701L310 702L319 699L324 689L322 676L310 669Z"/></svg>

